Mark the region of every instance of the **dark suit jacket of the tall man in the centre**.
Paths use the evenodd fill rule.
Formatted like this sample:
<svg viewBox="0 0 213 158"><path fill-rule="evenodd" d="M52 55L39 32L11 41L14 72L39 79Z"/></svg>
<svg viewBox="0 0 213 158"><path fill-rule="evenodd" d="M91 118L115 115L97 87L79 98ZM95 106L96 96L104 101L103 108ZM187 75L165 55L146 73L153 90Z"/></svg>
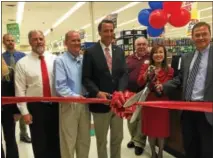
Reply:
<svg viewBox="0 0 213 158"><path fill-rule="evenodd" d="M83 58L82 80L89 97L92 98L95 98L99 91L112 94L116 90L125 90L128 84L128 69L124 51L112 45L111 74L100 43L88 48ZM110 107L104 104L90 104L89 108L96 113L110 111Z"/></svg>

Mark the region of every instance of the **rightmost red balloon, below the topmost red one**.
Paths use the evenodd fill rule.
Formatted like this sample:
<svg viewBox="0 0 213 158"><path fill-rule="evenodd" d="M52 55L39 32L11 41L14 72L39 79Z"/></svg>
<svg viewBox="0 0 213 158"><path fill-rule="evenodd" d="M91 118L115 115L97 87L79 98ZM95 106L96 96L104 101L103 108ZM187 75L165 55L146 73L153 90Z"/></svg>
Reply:
<svg viewBox="0 0 213 158"><path fill-rule="evenodd" d="M181 8L179 13L171 14L169 17L169 23L174 27L183 27L191 19L191 14L188 10Z"/></svg>

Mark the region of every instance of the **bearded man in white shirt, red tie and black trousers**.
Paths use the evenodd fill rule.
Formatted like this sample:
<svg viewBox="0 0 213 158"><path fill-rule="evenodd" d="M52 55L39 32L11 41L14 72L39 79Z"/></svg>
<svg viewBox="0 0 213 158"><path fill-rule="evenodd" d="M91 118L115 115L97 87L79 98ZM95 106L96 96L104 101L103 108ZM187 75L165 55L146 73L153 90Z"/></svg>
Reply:
<svg viewBox="0 0 213 158"><path fill-rule="evenodd" d="M32 52L16 65L16 96L50 97L54 95L55 56L45 51L45 38L41 31L30 31L28 39ZM60 158L58 103L18 103L18 108L25 122L30 125L35 158Z"/></svg>

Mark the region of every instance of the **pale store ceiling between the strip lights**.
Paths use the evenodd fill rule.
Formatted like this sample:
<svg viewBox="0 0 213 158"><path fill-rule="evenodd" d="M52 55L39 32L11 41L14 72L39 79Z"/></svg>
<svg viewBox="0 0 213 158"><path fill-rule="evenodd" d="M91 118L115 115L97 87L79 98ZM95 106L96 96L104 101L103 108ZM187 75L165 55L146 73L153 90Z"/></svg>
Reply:
<svg viewBox="0 0 213 158"><path fill-rule="evenodd" d="M18 2L2 2L2 34L6 33L6 24L16 21ZM46 31L52 27L58 18L63 16L77 2L26 2L24 7L23 21L20 26L20 45L28 46L27 34L30 30L38 29ZM94 20L107 16L113 11L131 3L131 2L92 2ZM149 8L148 2L135 2L131 8L128 8L118 14L118 28L116 32L126 29L145 29L137 21L138 13L144 8ZM10 7L7 5L15 5ZM212 2L198 2L198 10L212 7ZM91 2L86 2L80 9L69 16L65 21L53 29L46 36L47 44L58 41L68 30L79 30L87 24L91 24ZM212 8L200 11L202 21L208 22L212 27ZM14 21L11 21L11 20ZM131 20L131 21L130 21ZM130 21L128 24L125 22ZM98 24L98 23L97 23ZM95 39L98 39L97 24L95 24ZM174 28L169 24L166 25L165 37L184 37L186 27ZM92 28L85 29L86 41L92 41Z"/></svg>

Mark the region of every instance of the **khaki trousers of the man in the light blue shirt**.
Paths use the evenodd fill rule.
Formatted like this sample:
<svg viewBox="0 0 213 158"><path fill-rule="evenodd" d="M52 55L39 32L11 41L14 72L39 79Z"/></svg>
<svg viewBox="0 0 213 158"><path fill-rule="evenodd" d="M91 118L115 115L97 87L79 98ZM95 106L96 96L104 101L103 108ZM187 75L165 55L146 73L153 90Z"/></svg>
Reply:
<svg viewBox="0 0 213 158"><path fill-rule="evenodd" d="M59 110L61 158L88 158L90 112L87 104L61 103Z"/></svg>

